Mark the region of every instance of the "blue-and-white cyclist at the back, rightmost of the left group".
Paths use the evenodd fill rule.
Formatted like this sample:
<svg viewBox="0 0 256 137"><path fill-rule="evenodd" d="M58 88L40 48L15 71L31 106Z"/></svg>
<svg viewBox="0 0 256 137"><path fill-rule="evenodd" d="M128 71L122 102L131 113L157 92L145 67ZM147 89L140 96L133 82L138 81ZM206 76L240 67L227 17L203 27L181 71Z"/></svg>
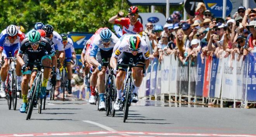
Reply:
<svg viewBox="0 0 256 137"><path fill-rule="evenodd" d="M67 38L67 35L61 34L62 43L65 50L65 62L67 65L67 79L68 79L68 94L71 94L71 79L72 79L72 68L71 65L74 63L73 59L76 58L76 53L74 51L74 45L71 38ZM64 69L64 68L63 68Z"/></svg>

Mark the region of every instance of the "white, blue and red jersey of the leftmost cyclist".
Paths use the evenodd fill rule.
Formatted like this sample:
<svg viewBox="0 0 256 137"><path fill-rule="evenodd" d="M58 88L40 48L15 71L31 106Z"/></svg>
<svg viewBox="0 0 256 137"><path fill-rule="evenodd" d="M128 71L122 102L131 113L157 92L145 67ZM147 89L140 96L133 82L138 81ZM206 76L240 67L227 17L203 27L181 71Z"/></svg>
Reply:
<svg viewBox="0 0 256 137"><path fill-rule="evenodd" d="M21 31L18 31L17 39L14 43L10 43L7 36L8 34L6 33L6 29L4 29L0 35L0 49L3 50L2 56L10 57L9 52L11 52L11 56L14 57L18 52L20 43L24 39L25 35Z"/></svg>

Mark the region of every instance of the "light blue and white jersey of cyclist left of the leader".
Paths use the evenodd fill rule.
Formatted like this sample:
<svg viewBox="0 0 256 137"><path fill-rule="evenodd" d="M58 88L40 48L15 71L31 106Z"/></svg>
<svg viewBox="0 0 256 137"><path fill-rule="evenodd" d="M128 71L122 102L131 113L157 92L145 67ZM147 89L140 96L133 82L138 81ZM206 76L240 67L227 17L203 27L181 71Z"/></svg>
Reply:
<svg viewBox="0 0 256 137"><path fill-rule="evenodd" d="M112 33L112 32L111 32ZM90 56L96 57L98 50L103 50L103 51L109 51L114 48L114 45L118 42L118 38L114 33L112 33L111 37L111 43L109 44L108 47L105 47L104 44L102 43L102 40L100 39L100 35L97 34L92 42L92 50L90 51Z"/></svg>

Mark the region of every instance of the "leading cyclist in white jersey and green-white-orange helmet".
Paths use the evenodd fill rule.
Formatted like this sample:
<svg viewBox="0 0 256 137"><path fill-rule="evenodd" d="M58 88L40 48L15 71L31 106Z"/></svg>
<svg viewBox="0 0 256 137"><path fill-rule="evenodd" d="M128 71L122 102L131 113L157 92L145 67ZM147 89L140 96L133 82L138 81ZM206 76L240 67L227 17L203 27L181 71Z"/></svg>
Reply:
<svg viewBox="0 0 256 137"><path fill-rule="evenodd" d="M119 67L119 69L116 70L117 61L119 63L128 64L130 62L130 58L132 58L135 65L145 64L145 68L147 69L149 66L149 48L147 43L139 35L130 35L130 37L125 37L121 41L112 56L115 60L111 62L113 63L114 74L116 74L117 90L117 99L114 103L114 109L118 111L120 107L120 99L122 98L121 92L127 67ZM146 74L142 74L142 68L140 67L134 67L132 69L132 76L134 79L132 102L136 103L138 101L138 89L142 83L142 78L145 77Z"/></svg>

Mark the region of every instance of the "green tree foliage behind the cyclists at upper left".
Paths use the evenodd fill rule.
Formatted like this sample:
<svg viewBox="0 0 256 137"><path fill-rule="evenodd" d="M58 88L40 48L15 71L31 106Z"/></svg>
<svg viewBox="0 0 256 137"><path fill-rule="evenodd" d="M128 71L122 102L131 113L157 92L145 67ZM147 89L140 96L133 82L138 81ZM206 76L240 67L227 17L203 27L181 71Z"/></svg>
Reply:
<svg viewBox="0 0 256 137"><path fill-rule="evenodd" d="M109 18L119 11L127 15L130 7L126 0L0 0L0 3L1 30L15 24L29 31L36 22L43 22L59 33L112 28ZM149 12L147 6L138 8L140 12Z"/></svg>

